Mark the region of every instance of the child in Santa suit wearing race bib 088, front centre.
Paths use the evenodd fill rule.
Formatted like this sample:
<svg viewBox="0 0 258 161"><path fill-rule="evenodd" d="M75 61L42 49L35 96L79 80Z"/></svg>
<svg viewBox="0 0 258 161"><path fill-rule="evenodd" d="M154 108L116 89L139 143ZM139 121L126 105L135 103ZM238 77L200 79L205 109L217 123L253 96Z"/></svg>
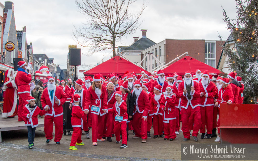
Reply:
<svg viewBox="0 0 258 161"><path fill-rule="evenodd" d="M128 119L127 107L125 101L122 99L122 91L116 91L116 102L111 109L111 113L115 113L114 133L116 136L116 143L120 143L120 132L122 133L123 141L120 148L127 148L127 132L126 121Z"/></svg>

